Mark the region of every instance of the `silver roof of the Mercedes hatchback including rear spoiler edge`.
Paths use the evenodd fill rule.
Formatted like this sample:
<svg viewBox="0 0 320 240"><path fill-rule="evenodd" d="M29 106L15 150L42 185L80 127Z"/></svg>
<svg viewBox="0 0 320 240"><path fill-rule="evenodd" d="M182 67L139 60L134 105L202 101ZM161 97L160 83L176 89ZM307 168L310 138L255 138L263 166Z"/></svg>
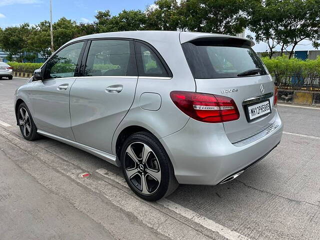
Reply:
<svg viewBox="0 0 320 240"><path fill-rule="evenodd" d="M80 36L75 39L70 40L68 43L85 40L85 39L97 39L97 38L133 38L139 39L152 44L153 41L161 41L161 39L167 41L177 41L180 40L180 43L188 42L197 38L203 37L227 37L227 38L238 38L250 42L250 45L253 46L254 42L247 38L223 35L217 33L203 33L203 32L186 32L186 31L117 31L117 32L104 32L96 33L91 35Z"/></svg>

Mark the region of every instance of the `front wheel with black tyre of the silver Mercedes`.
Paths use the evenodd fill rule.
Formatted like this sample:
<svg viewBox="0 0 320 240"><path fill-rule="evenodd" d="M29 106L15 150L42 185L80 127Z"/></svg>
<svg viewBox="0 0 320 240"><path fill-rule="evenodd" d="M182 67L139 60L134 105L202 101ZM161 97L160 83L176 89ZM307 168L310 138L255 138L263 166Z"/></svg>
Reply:
<svg viewBox="0 0 320 240"><path fill-rule="evenodd" d="M25 111L27 112L27 117L23 117L23 113L24 116L26 115ZM24 102L19 105L16 115L22 136L29 141L38 139L40 135L36 132L37 128L34 124L29 109ZM22 124L21 120L24 122L24 124ZM29 127L29 130L27 126Z"/></svg>

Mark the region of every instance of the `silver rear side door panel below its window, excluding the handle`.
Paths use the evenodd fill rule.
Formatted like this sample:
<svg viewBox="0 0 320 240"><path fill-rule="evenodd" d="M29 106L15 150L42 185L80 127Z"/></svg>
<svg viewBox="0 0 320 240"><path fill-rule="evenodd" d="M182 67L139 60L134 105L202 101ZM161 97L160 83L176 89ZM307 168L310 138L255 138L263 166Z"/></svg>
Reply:
<svg viewBox="0 0 320 240"><path fill-rule="evenodd" d="M114 130L133 102L136 82L137 76L76 78L70 91L75 140L111 153ZM113 85L120 85L121 91L106 90Z"/></svg>

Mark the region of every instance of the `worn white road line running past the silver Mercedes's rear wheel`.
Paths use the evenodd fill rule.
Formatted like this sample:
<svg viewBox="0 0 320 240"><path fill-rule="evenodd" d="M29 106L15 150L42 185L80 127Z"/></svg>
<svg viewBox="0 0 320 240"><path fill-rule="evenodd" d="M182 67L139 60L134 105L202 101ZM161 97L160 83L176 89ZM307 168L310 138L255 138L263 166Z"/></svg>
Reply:
<svg viewBox="0 0 320 240"><path fill-rule="evenodd" d="M99 168L96 170L96 172L100 173L103 176L106 176L121 185L128 187L126 184L125 180L123 177L114 174L113 172L110 172L104 168ZM225 238L229 240L238 240L238 239L243 239L243 240L249 240L248 237L241 235L240 233L237 233L235 231L230 230L229 228L220 225L219 223L216 223L215 221L206 218L205 216L201 216L200 214L196 213L195 211L192 211L188 208L185 208L184 206L181 206L180 204L177 204L173 201L170 201L166 198L162 198L157 201L158 204L173 210L174 212L212 230L218 232L220 235L224 236Z"/></svg>

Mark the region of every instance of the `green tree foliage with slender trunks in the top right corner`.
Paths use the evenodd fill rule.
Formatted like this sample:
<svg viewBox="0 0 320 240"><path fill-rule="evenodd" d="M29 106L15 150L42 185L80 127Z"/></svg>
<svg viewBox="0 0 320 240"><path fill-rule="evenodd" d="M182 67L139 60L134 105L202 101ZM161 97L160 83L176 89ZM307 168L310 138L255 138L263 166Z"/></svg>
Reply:
<svg viewBox="0 0 320 240"><path fill-rule="evenodd" d="M314 47L320 46L320 0L248 0L249 29L257 42L268 44L271 58L274 48L281 52L294 48L308 39Z"/></svg>

